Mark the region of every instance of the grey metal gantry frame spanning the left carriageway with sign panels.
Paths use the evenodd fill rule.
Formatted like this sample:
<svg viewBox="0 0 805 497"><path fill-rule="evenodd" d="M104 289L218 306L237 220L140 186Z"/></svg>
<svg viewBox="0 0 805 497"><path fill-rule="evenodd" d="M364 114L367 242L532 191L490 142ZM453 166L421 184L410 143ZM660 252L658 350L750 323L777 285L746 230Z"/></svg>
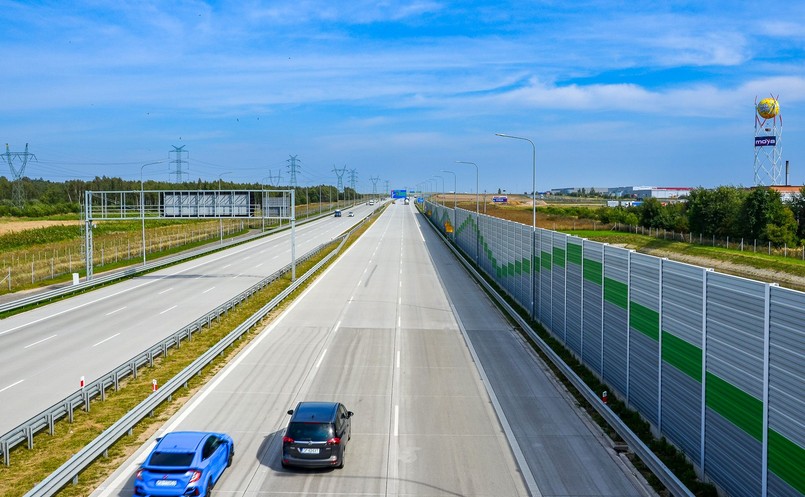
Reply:
<svg viewBox="0 0 805 497"><path fill-rule="evenodd" d="M292 278L296 279L296 196L294 190L127 190L84 192L84 254L92 279L95 221L141 221L143 255L146 219L247 218L289 220ZM148 201L148 202L146 202ZM223 233L222 233L223 239ZM145 263L145 257L143 257Z"/></svg>

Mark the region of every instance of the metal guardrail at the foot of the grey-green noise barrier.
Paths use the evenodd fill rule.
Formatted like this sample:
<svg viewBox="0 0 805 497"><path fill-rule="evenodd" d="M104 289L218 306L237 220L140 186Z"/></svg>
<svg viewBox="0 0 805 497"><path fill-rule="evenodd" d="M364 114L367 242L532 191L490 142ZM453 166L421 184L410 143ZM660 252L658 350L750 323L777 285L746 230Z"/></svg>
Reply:
<svg viewBox="0 0 805 497"><path fill-rule="evenodd" d="M425 219L428 220L428 223L433 226L432 221L430 218L425 216ZM590 387L584 383L573 369L565 364L559 355L554 352L554 350L547 344L545 341L531 328L528 322L523 319L514 308L506 302L506 300L501 297L495 290L492 288L486 279L472 266L472 264L466 259L464 254L458 250L447 238L442 235L442 233L438 229L434 229L436 234L445 242L448 246L450 251L456 256L456 258L464 265L467 271L478 281L487 291L489 295L492 295L495 300L497 301L500 306L506 310L506 312L511 316L512 319L517 321L517 323L528 333L529 337L534 340L534 343L545 353L546 356L551 360L554 366L559 369L565 378L570 381L573 386L582 394L585 400L593 406L593 408L604 418L604 420L609 424L617 433L623 438L628 446L634 451L635 454L640 458L641 461L649 468L649 470L654 473L654 475L662 482L668 491L671 492L672 495L676 497L694 497L693 493L682 483L679 478L668 469L668 466L663 463L657 455L651 451L651 449L643 443L642 440L629 428L619 417L615 414L612 409L609 408L606 404L601 402L593 392Z"/></svg>

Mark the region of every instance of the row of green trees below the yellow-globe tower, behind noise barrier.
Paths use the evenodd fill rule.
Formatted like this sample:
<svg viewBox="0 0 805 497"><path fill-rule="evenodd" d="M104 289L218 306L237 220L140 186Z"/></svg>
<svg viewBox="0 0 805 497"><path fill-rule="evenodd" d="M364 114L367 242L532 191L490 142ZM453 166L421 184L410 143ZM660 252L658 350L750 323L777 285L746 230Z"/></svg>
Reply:
<svg viewBox="0 0 805 497"><path fill-rule="evenodd" d="M602 207L596 217L604 223L796 247L805 245L805 186L789 201L765 187L695 188L686 202L663 205L649 198L638 206Z"/></svg>

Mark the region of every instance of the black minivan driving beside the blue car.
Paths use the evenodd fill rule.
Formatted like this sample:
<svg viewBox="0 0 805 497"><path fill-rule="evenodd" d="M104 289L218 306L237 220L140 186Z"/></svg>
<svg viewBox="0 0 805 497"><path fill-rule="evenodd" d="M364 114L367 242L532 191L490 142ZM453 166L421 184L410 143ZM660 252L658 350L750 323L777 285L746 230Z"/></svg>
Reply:
<svg viewBox="0 0 805 497"><path fill-rule="evenodd" d="M352 411L340 402L300 402L288 411L282 467L343 468L352 435Z"/></svg>

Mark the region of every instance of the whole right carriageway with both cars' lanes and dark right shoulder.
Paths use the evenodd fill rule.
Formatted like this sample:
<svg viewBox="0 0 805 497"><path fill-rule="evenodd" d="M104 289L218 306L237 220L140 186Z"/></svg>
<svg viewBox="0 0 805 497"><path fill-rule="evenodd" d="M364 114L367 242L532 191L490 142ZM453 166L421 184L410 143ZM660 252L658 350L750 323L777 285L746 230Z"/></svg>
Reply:
<svg viewBox="0 0 805 497"><path fill-rule="evenodd" d="M413 206L392 205L159 434L229 433L217 495L639 496ZM285 470L286 411L343 402L341 470ZM93 497L130 496L140 447Z"/></svg>

